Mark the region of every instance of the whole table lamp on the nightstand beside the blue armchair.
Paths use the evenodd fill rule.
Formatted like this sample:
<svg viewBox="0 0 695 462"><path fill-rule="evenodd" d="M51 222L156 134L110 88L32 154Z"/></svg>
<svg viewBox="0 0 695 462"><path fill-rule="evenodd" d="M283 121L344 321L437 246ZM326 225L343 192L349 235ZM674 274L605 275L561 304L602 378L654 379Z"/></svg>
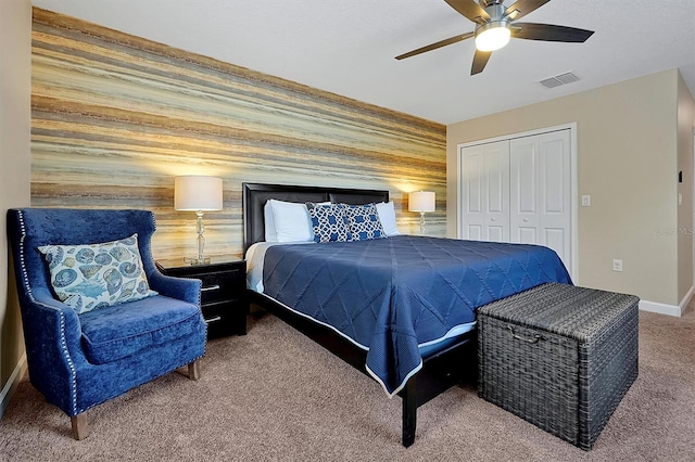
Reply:
<svg viewBox="0 0 695 462"><path fill-rule="evenodd" d="M198 216L198 257L184 258L190 265L206 265L210 257L203 255L205 247L205 228L203 213L222 210L222 178L203 176L184 176L174 179L174 208L195 211Z"/></svg>

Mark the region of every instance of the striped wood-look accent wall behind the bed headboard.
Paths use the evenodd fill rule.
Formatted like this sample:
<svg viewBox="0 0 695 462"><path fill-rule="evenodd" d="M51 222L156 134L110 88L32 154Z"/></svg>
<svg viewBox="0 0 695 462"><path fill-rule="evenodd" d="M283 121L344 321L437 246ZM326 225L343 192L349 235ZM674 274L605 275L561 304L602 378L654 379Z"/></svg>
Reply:
<svg viewBox="0 0 695 462"><path fill-rule="evenodd" d="M241 183L388 189L403 232L407 192L437 193L445 235L446 127L46 10L31 34L31 205L147 208L159 259L195 254L195 216L174 177L224 179L206 253L242 252Z"/></svg>

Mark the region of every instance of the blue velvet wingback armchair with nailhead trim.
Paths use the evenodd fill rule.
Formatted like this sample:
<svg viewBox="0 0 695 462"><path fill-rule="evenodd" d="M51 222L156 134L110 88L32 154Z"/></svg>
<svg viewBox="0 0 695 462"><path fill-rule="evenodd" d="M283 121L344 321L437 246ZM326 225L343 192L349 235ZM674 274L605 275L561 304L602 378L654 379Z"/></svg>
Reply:
<svg viewBox="0 0 695 462"><path fill-rule="evenodd" d="M186 364L189 377L198 378L206 337L201 282L156 269L154 230L147 210L8 210L29 380L71 416L76 439L88 435L88 409ZM38 247L104 243L134 233L149 286L159 295L83 313L56 298Z"/></svg>

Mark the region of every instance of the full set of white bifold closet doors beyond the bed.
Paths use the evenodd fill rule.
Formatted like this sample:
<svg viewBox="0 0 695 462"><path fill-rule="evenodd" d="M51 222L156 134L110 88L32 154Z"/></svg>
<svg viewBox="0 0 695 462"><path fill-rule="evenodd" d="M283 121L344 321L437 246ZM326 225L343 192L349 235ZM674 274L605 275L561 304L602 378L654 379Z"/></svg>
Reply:
<svg viewBox="0 0 695 462"><path fill-rule="evenodd" d="M569 130L463 147L462 238L540 244L571 268Z"/></svg>

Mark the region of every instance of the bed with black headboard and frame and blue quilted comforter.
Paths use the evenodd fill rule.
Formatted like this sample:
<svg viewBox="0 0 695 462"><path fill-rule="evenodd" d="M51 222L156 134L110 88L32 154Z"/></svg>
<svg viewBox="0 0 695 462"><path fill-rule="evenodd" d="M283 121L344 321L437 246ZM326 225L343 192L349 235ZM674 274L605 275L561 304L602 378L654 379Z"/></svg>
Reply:
<svg viewBox="0 0 695 462"><path fill-rule="evenodd" d="M402 442L417 408L476 373L475 310L545 282L571 283L541 246L391 235L359 242L264 243L266 203L363 205L388 191L243 184L249 296L403 402ZM275 224L270 224L275 227Z"/></svg>

